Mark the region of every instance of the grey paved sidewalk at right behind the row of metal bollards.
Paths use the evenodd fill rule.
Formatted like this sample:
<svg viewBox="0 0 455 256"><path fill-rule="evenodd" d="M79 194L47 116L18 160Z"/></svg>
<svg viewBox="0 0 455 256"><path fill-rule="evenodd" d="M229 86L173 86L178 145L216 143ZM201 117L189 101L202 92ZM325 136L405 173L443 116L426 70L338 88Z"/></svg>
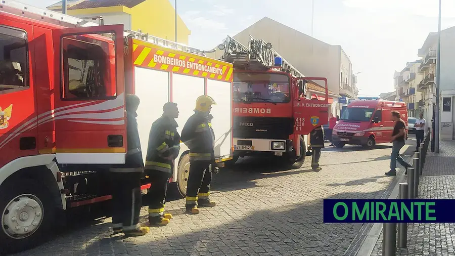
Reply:
<svg viewBox="0 0 455 256"><path fill-rule="evenodd" d="M440 153L428 153L419 198L455 199L455 142L440 141ZM413 223L407 226L407 248L396 255L454 255L454 223ZM382 233L371 255L382 255Z"/></svg>

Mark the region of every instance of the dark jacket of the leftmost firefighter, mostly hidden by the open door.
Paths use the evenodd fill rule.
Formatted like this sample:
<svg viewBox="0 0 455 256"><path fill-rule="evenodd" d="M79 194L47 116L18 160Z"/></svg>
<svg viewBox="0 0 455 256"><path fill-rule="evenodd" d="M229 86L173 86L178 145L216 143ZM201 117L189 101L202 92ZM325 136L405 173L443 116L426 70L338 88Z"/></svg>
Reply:
<svg viewBox="0 0 455 256"><path fill-rule="evenodd" d="M126 112L126 156L125 164L115 164L111 166L111 172L130 173L142 172L144 170L144 160L142 158L141 141L139 140L138 114L132 111Z"/></svg>

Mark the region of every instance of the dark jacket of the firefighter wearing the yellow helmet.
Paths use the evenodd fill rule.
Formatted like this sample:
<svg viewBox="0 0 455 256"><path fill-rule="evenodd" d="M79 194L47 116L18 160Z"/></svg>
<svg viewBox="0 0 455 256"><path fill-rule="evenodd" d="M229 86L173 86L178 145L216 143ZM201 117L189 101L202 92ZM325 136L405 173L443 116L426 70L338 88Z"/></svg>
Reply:
<svg viewBox="0 0 455 256"><path fill-rule="evenodd" d="M190 160L215 161L212 115L195 110L181 131L180 140L190 149Z"/></svg>

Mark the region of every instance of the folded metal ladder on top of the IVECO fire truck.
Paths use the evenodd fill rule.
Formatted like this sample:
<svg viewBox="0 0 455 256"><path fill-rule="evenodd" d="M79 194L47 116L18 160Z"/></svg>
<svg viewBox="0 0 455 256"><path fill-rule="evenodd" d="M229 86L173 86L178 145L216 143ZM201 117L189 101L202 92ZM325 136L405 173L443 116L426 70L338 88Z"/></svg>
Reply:
<svg viewBox="0 0 455 256"><path fill-rule="evenodd" d="M274 68L275 58L282 59L282 71L289 72L296 77L305 77L285 58L272 48L272 45L264 40L255 39L250 35L248 48L231 36L224 39L223 44L218 46L224 50L221 60L234 64L234 68L240 69L264 69Z"/></svg>

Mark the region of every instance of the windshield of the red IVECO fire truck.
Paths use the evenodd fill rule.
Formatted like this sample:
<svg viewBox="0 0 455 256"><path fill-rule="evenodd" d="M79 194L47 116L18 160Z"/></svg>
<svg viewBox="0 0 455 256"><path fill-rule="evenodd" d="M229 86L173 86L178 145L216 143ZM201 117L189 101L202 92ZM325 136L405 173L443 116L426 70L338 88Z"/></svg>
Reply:
<svg viewBox="0 0 455 256"><path fill-rule="evenodd" d="M271 73L234 74L233 98L238 102L290 102L289 77Z"/></svg>

